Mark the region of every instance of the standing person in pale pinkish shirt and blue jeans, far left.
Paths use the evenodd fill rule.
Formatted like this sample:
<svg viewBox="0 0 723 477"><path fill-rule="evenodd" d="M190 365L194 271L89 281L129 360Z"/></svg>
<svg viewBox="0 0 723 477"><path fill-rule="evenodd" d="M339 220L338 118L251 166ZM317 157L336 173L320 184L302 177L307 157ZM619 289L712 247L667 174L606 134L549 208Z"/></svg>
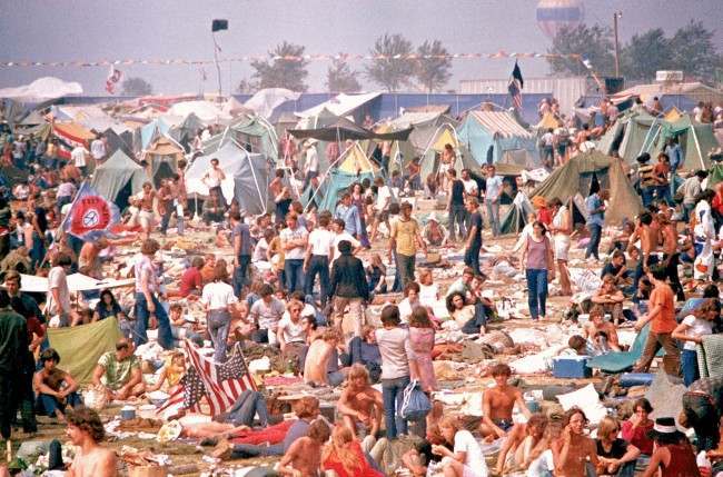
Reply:
<svg viewBox="0 0 723 477"><path fill-rule="evenodd" d="M158 344L164 349L174 347L174 335L170 320L162 304L158 299L158 274L153 265L153 256L160 245L153 239L146 239L140 246L140 257L136 259L133 272L136 277L136 327L133 342L136 346L148 342L148 324L155 320L158 324Z"/></svg>

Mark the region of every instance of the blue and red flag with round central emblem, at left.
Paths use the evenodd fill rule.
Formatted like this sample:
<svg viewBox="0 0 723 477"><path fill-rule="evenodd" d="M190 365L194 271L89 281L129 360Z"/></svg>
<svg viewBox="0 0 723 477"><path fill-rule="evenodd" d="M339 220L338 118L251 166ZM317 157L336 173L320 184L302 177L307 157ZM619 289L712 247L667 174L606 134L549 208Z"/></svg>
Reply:
<svg viewBox="0 0 723 477"><path fill-rule="evenodd" d="M118 206L83 182L66 216L62 230L81 240L98 240L120 222Z"/></svg>

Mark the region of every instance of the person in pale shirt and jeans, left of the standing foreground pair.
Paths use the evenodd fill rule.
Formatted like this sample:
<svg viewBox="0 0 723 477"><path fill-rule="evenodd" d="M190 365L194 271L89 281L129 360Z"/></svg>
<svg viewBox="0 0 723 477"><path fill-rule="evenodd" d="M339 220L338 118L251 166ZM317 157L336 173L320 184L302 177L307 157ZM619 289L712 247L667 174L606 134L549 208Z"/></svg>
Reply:
<svg viewBox="0 0 723 477"><path fill-rule="evenodd" d="M399 416L399 409L409 384L409 330L400 322L399 308L387 305L382 310L382 328L375 332L382 355L382 400L389 440L407 434L407 421Z"/></svg>

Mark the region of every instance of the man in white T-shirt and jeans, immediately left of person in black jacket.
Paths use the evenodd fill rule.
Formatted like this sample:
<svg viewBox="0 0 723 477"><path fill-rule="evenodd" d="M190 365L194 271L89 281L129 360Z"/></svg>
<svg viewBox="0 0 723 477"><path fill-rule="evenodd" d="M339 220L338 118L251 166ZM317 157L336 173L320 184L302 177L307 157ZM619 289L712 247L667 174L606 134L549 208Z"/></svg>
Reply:
<svg viewBox="0 0 723 477"><path fill-rule="evenodd" d="M308 297L314 294L314 282L319 276L321 307L326 306L329 295L329 257L334 254L335 233L329 230L331 217L328 213L319 215L319 225L309 233L309 244L304 257L304 294Z"/></svg>

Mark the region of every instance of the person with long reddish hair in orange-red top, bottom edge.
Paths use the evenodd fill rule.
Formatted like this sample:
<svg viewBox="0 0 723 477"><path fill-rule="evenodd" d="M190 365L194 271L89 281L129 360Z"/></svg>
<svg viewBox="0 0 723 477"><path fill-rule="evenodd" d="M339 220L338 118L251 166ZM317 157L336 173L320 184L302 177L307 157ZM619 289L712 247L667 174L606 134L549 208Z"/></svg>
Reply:
<svg viewBox="0 0 723 477"><path fill-rule="evenodd" d="M372 468L359 441L341 424L334 427L331 441L324 447L321 466L324 470L334 470L338 477L384 477Z"/></svg>

